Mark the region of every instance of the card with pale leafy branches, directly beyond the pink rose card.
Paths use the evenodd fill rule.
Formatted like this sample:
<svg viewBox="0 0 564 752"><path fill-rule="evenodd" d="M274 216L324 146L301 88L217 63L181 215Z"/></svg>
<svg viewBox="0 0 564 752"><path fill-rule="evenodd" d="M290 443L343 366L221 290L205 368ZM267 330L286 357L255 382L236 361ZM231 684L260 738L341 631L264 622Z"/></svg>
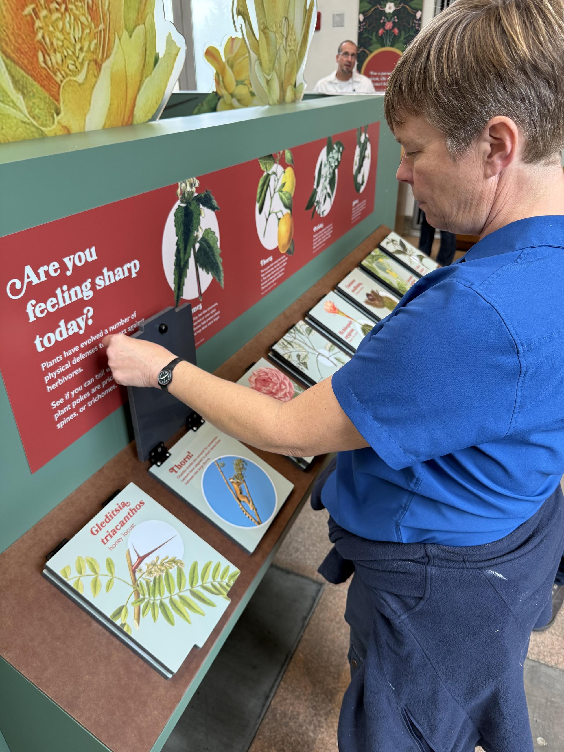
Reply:
<svg viewBox="0 0 564 752"><path fill-rule="evenodd" d="M299 321L275 342L268 357L310 386L329 378L350 360L341 347L305 321Z"/></svg>

